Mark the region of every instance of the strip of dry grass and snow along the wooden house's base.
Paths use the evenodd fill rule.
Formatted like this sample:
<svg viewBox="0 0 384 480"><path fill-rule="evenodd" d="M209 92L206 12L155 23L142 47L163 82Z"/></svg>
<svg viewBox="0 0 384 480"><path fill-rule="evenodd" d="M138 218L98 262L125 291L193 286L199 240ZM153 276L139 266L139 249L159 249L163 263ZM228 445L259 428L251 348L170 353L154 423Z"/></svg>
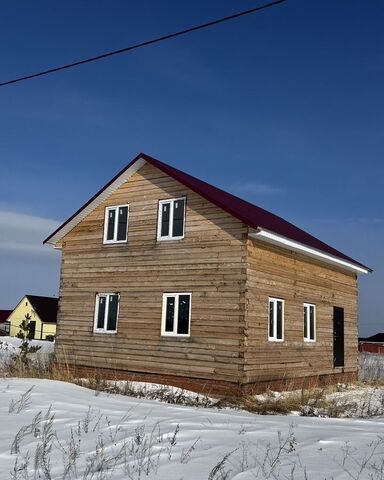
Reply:
<svg viewBox="0 0 384 480"><path fill-rule="evenodd" d="M145 383L106 380L97 372L86 379L79 379L65 357L58 364L53 354L32 354L27 365L20 356L9 355L0 362L0 376L46 378L76 383L95 390L96 394L119 393L172 404L242 409L261 415L296 413L303 416L369 417L384 412L384 358L372 355L360 356L360 382L323 386L319 380L312 379L310 383L303 383L300 389L297 389L297 384L287 382L283 392L267 389L260 395L247 394L237 398L213 398L167 385L148 388ZM353 392L356 390L363 392L355 398Z"/></svg>

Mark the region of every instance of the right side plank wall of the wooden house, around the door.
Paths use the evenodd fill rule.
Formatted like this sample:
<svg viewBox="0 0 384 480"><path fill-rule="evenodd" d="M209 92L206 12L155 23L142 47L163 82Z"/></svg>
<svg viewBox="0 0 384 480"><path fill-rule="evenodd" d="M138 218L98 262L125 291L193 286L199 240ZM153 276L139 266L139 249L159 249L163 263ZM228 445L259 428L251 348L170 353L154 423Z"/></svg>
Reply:
<svg viewBox="0 0 384 480"><path fill-rule="evenodd" d="M357 370L356 275L248 240L244 383ZM268 341L269 297L284 303L284 341ZM316 305L316 342L304 342L303 304ZM345 312L345 367L333 368L333 307Z"/></svg>

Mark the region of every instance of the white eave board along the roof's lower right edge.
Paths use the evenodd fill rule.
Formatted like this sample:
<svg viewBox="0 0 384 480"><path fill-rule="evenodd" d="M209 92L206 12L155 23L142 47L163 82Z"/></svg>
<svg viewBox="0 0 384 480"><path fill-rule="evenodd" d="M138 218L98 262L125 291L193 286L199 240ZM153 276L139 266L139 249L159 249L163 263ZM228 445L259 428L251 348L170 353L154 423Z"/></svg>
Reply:
<svg viewBox="0 0 384 480"><path fill-rule="evenodd" d="M302 253L304 255L308 255L309 257L321 260L326 263L330 263L332 265L343 267L355 273L369 273L368 269L360 267L359 265L348 262L347 260L343 260L342 258L335 257L333 255L330 255L329 253L324 253L321 250L308 247L303 243L295 242L294 240L290 240L287 237L283 237L282 235L270 232L269 230L264 230L263 228L257 229L254 233L250 233L249 236L257 240L262 240L264 242L277 245L279 247L283 247L289 250L293 250L295 252Z"/></svg>

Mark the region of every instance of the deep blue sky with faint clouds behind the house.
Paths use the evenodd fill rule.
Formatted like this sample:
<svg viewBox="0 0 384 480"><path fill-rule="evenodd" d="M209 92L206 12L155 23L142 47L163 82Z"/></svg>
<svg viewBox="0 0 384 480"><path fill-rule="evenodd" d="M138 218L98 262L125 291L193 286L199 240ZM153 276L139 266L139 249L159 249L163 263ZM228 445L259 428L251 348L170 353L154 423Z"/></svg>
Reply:
<svg viewBox="0 0 384 480"><path fill-rule="evenodd" d="M0 81L256 1L2 5ZM384 331L384 7L287 3L0 89L0 308L58 292L41 240L144 151L372 268L360 331Z"/></svg>

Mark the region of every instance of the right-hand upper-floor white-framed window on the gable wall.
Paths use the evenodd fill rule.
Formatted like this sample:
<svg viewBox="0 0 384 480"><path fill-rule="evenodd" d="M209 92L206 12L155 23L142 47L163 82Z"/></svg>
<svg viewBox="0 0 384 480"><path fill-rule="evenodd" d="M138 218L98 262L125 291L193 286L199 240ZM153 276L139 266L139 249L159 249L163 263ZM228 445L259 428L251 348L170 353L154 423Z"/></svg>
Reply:
<svg viewBox="0 0 384 480"><path fill-rule="evenodd" d="M185 197L159 201L157 240L184 238Z"/></svg>

